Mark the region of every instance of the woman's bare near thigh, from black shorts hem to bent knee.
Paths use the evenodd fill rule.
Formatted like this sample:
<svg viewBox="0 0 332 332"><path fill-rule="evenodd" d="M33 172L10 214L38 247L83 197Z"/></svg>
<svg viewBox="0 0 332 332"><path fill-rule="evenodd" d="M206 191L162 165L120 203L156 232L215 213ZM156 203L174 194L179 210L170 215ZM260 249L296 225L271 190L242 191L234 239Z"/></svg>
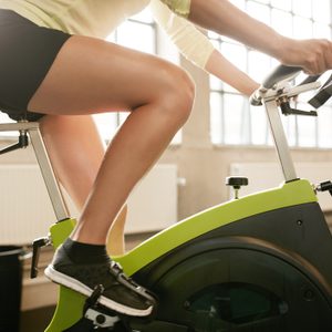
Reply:
<svg viewBox="0 0 332 332"><path fill-rule="evenodd" d="M131 111L167 95L181 80L188 81L185 72L156 56L74 35L60 50L28 110L62 115Z"/></svg>

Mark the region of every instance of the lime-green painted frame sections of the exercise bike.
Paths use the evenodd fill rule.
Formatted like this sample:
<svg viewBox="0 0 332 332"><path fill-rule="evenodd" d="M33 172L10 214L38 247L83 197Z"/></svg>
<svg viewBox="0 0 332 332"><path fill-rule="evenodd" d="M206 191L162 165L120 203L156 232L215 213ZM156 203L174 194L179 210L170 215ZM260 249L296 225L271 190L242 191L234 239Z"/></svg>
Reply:
<svg viewBox="0 0 332 332"><path fill-rule="evenodd" d="M303 179L286 183L282 186L248 195L240 199L211 207L160 231L121 257L113 257L132 276L160 256L191 239L237 220L267 211L317 201L309 181ZM75 220L66 219L51 227L51 239L58 248L70 235ZM86 298L68 288L60 287L58 307L45 332L60 332L74 325L83 313Z"/></svg>

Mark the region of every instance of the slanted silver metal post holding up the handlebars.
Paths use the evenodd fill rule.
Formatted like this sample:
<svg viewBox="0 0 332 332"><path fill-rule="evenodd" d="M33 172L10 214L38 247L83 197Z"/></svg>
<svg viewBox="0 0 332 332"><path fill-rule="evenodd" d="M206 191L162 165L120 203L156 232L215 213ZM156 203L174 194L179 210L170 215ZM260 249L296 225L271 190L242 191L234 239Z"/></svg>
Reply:
<svg viewBox="0 0 332 332"><path fill-rule="evenodd" d="M270 122L270 128L274 139L274 145L277 148L284 180L286 181L294 180L298 177L297 177L293 160L290 155L290 151L289 151L287 137L284 135L284 129L280 118L277 102L274 100L271 100L263 103Z"/></svg>

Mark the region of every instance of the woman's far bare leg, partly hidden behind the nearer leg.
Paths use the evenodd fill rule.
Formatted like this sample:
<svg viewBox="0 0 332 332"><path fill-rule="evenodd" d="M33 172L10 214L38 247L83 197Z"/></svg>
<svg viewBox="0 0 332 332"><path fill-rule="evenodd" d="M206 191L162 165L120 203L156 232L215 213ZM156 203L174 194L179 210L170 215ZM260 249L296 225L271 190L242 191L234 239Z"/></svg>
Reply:
<svg viewBox="0 0 332 332"><path fill-rule="evenodd" d="M81 211L105 154L94 120L91 115L45 115L40 129L56 177ZM125 251L125 219L126 206L108 231L110 255Z"/></svg>

